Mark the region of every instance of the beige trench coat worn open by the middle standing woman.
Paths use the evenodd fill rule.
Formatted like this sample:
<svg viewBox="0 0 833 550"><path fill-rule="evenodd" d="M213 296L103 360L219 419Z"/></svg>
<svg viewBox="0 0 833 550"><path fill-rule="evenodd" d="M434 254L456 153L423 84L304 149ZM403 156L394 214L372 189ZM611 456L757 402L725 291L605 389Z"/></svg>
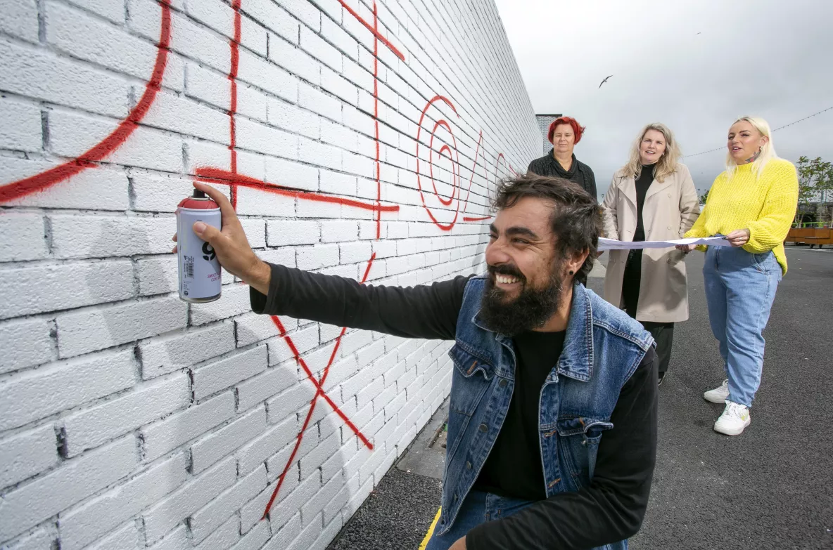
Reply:
<svg viewBox="0 0 833 550"><path fill-rule="evenodd" d="M636 181L617 171L602 202L605 236L633 240L636 231ZM654 180L642 206L645 240L681 239L700 216L700 201L688 167L660 183ZM605 277L605 300L617 307L622 303L622 277L627 250L610 250ZM676 323L688 319L688 280L685 255L676 249L645 249L642 253L642 278L636 319L656 323Z"/></svg>

